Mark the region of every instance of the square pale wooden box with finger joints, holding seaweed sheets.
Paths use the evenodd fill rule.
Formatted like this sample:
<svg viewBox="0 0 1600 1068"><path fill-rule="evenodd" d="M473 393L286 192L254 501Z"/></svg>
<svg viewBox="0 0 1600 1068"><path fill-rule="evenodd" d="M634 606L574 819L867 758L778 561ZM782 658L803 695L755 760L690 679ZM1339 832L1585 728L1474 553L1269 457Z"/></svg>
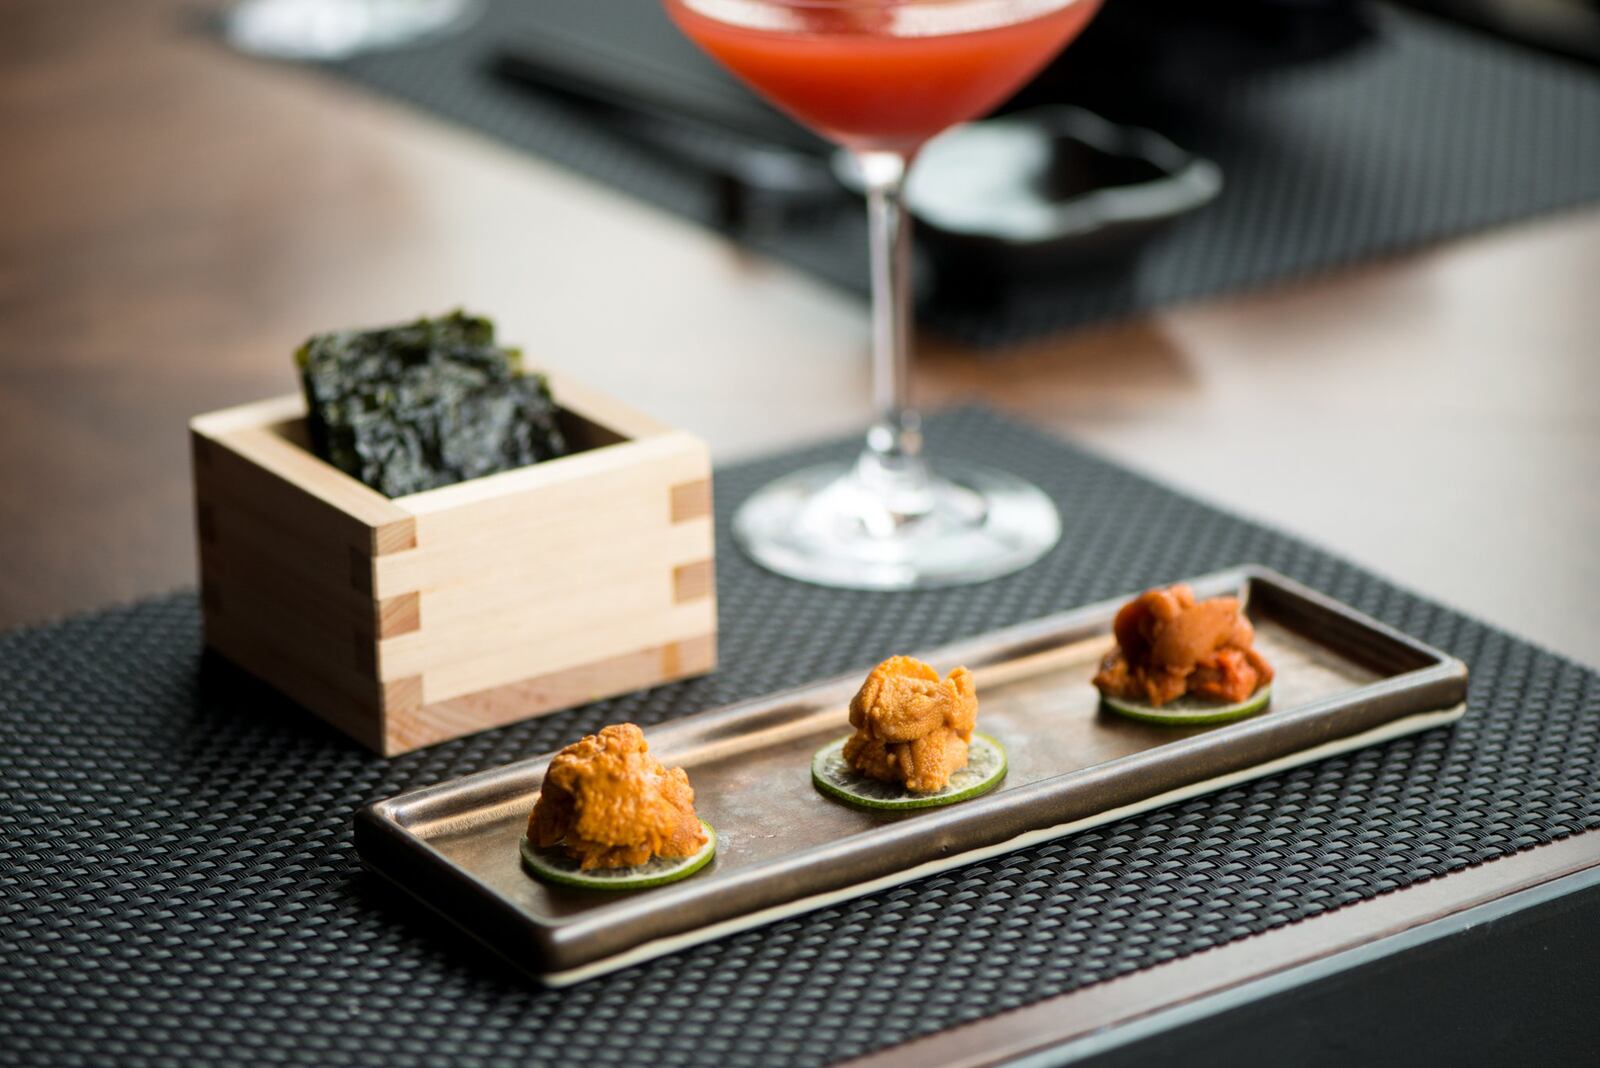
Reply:
<svg viewBox="0 0 1600 1068"><path fill-rule="evenodd" d="M395 499L299 397L194 419L206 644L389 756L710 671L706 444L549 377L570 456Z"/></svg>

